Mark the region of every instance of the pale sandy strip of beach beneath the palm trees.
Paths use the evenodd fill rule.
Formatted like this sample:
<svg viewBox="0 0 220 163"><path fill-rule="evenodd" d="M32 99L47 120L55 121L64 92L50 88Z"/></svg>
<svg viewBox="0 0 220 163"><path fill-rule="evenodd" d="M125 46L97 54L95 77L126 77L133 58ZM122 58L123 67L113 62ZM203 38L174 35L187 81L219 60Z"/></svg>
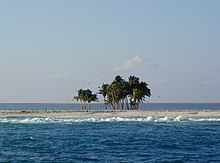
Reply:
<svg viewBox="0 0 220 163"><path fill-rule="evenodd" d="M186 116L186 117L220 117L220 110L0 110L0 117L7 116L46 116L46 117L91 117L91 116Z"/></svg>

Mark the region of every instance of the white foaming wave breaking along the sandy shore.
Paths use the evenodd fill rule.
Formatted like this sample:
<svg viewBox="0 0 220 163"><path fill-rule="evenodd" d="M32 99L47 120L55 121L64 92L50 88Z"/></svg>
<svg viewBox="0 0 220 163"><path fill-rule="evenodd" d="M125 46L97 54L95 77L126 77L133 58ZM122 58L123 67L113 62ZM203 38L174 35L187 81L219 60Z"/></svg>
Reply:
<svg viewBox="0 0 220 163"><path fill-rule="evenodd" d="M82 123L82 122L152 122L152 123L174 123L174 122L220 122L220 117L0 117L0 123Z"/></svg>

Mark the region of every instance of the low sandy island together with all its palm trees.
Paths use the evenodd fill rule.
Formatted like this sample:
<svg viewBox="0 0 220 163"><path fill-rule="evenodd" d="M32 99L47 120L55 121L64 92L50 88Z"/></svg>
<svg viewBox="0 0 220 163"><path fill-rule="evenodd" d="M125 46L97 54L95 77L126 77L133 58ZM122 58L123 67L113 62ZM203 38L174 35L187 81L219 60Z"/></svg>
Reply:
<svg viewBox="0 0 220 163"><path fill-rule="evenodd" d="M103 109L91 109L91 102L98 102L97 95L104 98ZM146 97L151 96L148 84L136 76L130 76L126 81L116 76L110 84L102 83L98 93L90 89L79 89L73 100L81 103L81 109L73 110L0 110L0 117L8 116L43 116L43 117L220 117L220 110L183 109L183 110L144 110L139 108Z"/></svg>

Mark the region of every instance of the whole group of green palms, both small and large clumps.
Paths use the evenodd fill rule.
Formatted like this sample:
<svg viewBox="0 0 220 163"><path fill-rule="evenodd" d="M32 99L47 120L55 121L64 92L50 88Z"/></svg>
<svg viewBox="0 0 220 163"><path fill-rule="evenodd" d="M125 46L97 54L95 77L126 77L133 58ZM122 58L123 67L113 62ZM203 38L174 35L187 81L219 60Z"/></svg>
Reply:
<svg viewBox="0 0 220 163"><path fill-rule="evenodd" d="M99 94L102 94L105 102L105 109L110 105L113 110L134 110L138 109L139 104L145 101L145 97L151 96L151 90L146 82L140 81L136 76L130 76L128 81L121 76L116 76L111 84L102 84L99 87ZM79 89L78 95L73 97L82 104L82 109L90 109L92 101L98 101L97 94L91 90Z"/></svg>

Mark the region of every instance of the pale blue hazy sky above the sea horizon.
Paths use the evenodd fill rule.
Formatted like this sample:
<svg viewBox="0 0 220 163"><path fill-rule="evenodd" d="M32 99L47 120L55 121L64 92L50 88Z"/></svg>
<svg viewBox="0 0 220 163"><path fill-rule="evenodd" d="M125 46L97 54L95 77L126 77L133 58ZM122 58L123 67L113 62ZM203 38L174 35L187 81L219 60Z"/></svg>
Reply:
<svg viewBox="0 0 220 163"><path fill-rule="evenodd" d="M147 82L146 102L220 102L219 8L219 0L0 1L0 102L69 103L116 75Z"/></svg>

